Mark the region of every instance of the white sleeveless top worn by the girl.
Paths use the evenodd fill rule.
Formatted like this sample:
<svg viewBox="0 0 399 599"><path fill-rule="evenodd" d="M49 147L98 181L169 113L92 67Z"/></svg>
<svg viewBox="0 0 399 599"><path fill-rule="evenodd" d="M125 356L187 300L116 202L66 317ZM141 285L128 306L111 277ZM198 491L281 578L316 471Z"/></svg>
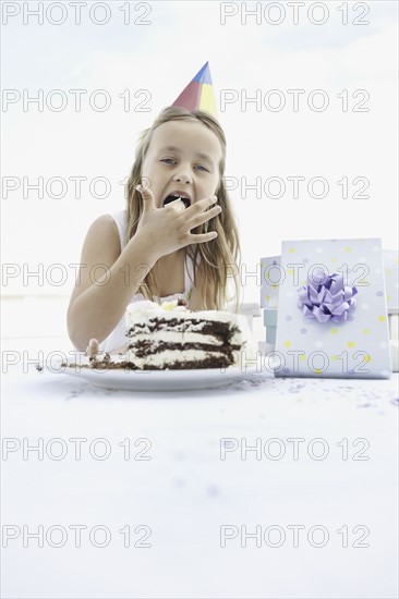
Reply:
<svg viewBox="0 0 399 599"><path fill-rule="evenodd" d="M126 239L126 231L128 231L128 211L126 210L120 210L119 212L110 212L110 216L113 218L113 220L117 223L118 231L119 231L119 237L121 242L121 252L124 249L125 239ZM172 302L173 300L178 300L179 297L183 297L184 300L189 301L191 291L194 283L194 269L193 269L193 260L191 259L188 254L185 255L184 260L184 292L183 293L173 293L172 295L168 295L166 297L156 297L153 296L153 301L157 302L158 304L161 304L162 302ZM145 300L144 295L142 293L136 293L132 296L131 302L141 302ZM100 343L100 351L102 352L113 352L114 350L119 350L126 343L126 326L124 320L124 315L113 329L113 331L110 332L110 334Z"/></svg>

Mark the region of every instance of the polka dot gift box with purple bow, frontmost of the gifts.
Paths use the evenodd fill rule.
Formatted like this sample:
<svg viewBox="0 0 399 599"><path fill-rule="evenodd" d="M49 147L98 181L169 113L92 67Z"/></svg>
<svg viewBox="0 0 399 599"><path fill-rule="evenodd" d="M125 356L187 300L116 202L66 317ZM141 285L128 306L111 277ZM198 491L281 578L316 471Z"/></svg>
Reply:
<svg viewBox="0 0 399 599"><path fill-rule="evenodd" d="M275 375L389 378L380 240L286 241L281 269Z"/></svg>

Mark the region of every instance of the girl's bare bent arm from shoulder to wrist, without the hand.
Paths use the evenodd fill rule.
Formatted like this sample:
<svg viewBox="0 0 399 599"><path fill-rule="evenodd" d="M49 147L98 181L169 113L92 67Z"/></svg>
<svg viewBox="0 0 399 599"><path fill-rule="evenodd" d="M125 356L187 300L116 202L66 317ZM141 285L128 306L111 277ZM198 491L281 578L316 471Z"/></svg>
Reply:
<svg viewBox="0 0 399 599"><path fill-rule="evenodd" d="M85 351L92 338L101 342L109 335L156 260L145 240L138 237L133 237L121 253L118 229L110 216L92 224L66 315L68 332L77 350Z"/></svg>

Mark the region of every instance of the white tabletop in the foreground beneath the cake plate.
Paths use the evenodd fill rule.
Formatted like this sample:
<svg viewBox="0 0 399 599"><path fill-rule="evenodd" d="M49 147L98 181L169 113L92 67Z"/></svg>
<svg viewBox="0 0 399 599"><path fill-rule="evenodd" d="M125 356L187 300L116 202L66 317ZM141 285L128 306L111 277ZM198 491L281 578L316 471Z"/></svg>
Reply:
<svg viewBox="0 0 399 599"><path fill-rule="evenodd" d="M19 345L34 346L35 340ZM41 340L41 347L53 346ZM2 395L3 543L10 537L2 596L397 597L397 375L255 379L130 393L10 367ZM77 438L87 440L81 460L71 441ZM304 440L298 460L293 438ZM23 449L38 439L43 460L37 452L24 459ZM147 441L135 445L138 439ZM261 443L261 453L245 453L245 440ZM220 447L235 445L220 459ZM76 525L86 527L81 547ZM295 525L303 527L295 528L298 547ZM38 526L43 548L27 536ZM245 530L258 536L241 547Z"/></svg>

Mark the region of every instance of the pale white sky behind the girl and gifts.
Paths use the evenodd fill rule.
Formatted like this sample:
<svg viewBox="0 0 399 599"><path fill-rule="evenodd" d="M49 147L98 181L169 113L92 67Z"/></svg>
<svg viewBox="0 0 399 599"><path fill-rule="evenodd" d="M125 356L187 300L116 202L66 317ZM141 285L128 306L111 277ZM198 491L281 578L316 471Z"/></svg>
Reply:
<svg viewBox="0 0 399 599"><path fill-rule="evenodd" d="M2 2L3 11L8 2ZM246 198L239 186L231 193L241 233L242 261L254 271L259 258L280 254L281 240L330 237L383 237L385 248L398 246L397 233L397 42L398 4L396 1L335 2L324 4L329 16L323 25L312 24L306 2L301 9L300 23L293 24L292 8L281 2L286 19L280 25L261 24L247 17L241 24L238 14L220 24L219 2L148 2L148 25L134 24L144 9L134 10L131 3L130 25L123 24L119 10L126 2L109 2L111 19L106 25L90 22L88 9L82 9L82 24L74 24L74 12L64 2L66 21L52 25L45 16L25 15L23 4L31 10L37 2L20 3L21 13L9 17L2 26L2 87L17 94L45 98L52 89L62 89L68 105L61 112L37 105L23 110L22 99L2 108L2 261L19 265L21 270L45 271L52 264L68 269L65 284L43 286L32 279L24 286L22 277L8 282L2 294L69 295L74 271L69 264L80 261L81 246L89 224L98 216L123 209L124 193L120 182L129 174L135 142L141 130L150 125L158 112L171 103L209 61L217 102L220 94L234 89L249 97L261 89L262 98L270 89L286 97L280 112L267 110L263 103L257 112L253 103L242 108L240 101L219 110L219 120L228 140L226 175L246 178L251 184L256 176L264 184L279 176L286 182L286 194L279 199L257 198L249 191ZM45 7L49 3L45 2ZM255 2L247 2L254 9ZM267 3L262 3L263 9ZM342 24L339 5L348 7L348 25ZM354 4L358 9L354 9ZM233 3L230 3L233 7ZM361 8L359 8L361 5ZM362 17L362 7L370 12ZM98 9L98 19L104 12ZM276 20L277 12L270 13ZM314 13L319 19L321 13ZM53 12L59 19L60 12ZM353 20L368 20L368 25L354 25ZM4 14L3 14L4 22ZM74 110L70 89L86 89L82 111ZM106 89L111 106L106 112L89 107L88 96ZM131 94L132 109L123 110L119 97ZM134 97L147 89L149 112L134 111L144 98ZM288 89L304 89L300 109L292 109ZM312 111L306 98L315 89L324 89L329 107L324 112ZM337 97L348 90L349 110L342 111ZM352 94L365 89L370 99L368 112L353 112L362 99ZM98 98L100 100L100 98ZM53 99L58 101L57 98ZM274 98L276 100L276 97ZM319 98L316 98L319 100ZM4 178L21 180L17 191L4 196ZM43 176L45 183L62 176L68 183L63 199L38 199L31 191L23 197L22 178L29 183ZM86 176L82 197L74 197L71 176ZM93 197L89 181L105 176L111 184L107 198ZM288 176L304 176L305 184L315 176L329 183L324 199L309 196L301 187L300 197L292 197ZM349 179L349 198L342 198L337 181ZM352 180L370 181L368 199L351 197L360 190ZM58 187L55 186L55 192ZM317 191L317 188L316 188ZM98 186L98 192L101 187ZM26 265L23 267L22 265ZM255 280L245 288L244 301L258 301Z"/></svg>

